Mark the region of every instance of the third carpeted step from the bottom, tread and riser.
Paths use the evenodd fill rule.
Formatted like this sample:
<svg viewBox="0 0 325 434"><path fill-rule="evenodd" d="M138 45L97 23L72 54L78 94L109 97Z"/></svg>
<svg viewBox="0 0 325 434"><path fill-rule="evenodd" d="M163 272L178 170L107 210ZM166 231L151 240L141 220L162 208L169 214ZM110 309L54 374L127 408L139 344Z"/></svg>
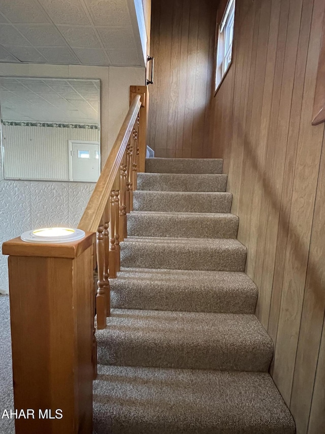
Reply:
<svg viewBox="0 0 325 434"><path fill-rule="evenodd" d="M225 271L124 268L110 285L119 309L254 313L258 294L245 273Z"/></svg>

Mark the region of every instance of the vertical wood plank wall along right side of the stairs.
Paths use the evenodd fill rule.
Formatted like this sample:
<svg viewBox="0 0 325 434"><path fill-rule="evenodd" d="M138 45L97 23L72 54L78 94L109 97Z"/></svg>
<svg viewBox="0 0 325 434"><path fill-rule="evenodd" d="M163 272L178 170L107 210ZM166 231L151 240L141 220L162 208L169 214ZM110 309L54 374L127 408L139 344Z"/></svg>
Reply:
<svg viewBox="0 0 325 434"><path fill-rule="evenodd" d="M311 126L324 0L237 0L233 64L212 99L273 379L298 434L325 432L325 140Z"/></svg>

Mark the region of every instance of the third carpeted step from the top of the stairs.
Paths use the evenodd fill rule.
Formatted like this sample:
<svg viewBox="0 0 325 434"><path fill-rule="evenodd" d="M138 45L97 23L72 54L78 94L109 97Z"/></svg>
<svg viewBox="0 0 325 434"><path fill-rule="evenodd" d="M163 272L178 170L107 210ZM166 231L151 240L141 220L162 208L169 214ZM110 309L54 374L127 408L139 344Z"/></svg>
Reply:
<svg viewBox="0 0 325 434"><path fill-rule="evenodd" d="M232 200L231 193L137 190L133 193L133 209L180 213L230 213Z"/></svg>

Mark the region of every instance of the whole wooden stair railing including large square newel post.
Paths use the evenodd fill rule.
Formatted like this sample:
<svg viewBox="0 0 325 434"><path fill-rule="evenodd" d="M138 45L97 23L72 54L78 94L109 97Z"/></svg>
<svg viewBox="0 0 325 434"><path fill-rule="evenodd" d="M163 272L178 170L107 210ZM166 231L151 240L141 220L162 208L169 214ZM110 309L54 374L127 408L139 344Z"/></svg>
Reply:
<svg viewBox="0 0 325 434"><path fill-rule="evenodd" d="M137 171L144 171L147 88L131 86L131 106L78 225L85 237L3 244L9 255L16 434L90 434L98 328L110 315L109 277L120 269ZM98 274L94 288L93 274ZM95 297L96 296L96 297ZM94 303L95 301L95 303Z"/></svg>

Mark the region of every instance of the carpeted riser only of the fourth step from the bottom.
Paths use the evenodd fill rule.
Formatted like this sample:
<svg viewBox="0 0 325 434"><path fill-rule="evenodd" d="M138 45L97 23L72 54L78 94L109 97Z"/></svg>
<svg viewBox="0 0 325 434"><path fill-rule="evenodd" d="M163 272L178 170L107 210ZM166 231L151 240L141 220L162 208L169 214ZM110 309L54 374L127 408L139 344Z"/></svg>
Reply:
<svg viewBox="0 0 325 434"><path fill-rule="evenodd" d="M164 268L173 270L244 271L246 248L217 249L180 244L123 242L122 267Z"/></svg>

